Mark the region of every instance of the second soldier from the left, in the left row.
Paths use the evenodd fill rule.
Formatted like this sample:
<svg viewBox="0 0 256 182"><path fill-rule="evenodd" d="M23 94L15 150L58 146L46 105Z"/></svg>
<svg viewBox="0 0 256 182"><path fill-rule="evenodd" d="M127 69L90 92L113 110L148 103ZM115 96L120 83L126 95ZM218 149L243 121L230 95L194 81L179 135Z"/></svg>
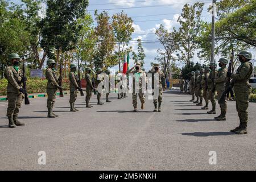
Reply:
<svg viewBox="0 0 256 182"><path fill-rule="evenodd" d="M54 114L52 112L53 105L55 103L57 89L63 90L61 86L58 84L58 78L55 73L55 61L49 59L47 61L48 68L46 69L46 79L48 80L47 83L47 108L48 108L48 118L55 118L59 115Z"/></svg>

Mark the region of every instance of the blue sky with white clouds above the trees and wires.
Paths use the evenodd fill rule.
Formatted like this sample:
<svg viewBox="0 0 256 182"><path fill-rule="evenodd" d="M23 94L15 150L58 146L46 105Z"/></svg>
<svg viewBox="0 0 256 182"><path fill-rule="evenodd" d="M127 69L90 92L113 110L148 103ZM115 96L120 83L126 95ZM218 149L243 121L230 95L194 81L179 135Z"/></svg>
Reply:
<svg viewBox="0 0 256 182"><path fill-rule="evenodd" d="M13 0L15 3L20 3L20 0ZM195 2L205 3L202 13L202 19L210 22L212 15L208 13L207 9L211 5L212 0L90 0L88 6L88 12L94 18L94 10L98 10L100 13L103 10L108 11L109 15L120 13L122 10L134 20L133 27L135 29L132 39L142 39L143 42L156 41L155 30L163 24L164 27L171 31L172 28L179 28L177 18L182 11L185 3L193 5ZM137 44L130 44L133 46L133 50L137 51ZM154 58L158 55L157 50L163 48L160 43L142 43L144 53L146 57L144 59L144 68L151 69L150 63L155 62ZM198 50L197 50L198 51ZM200 60L197 57L197 51L193 57L193 62L199 63ZM130 55L131 57L131 55ZM255 57L255 53L254 53ZM216 56L216 60L220 57ZM203 61L201 61L203 64ZM178 67L183 67L183 64L176 63ZM130 60L130 67L133 65L133 60ZM118 69L118 67L113 67Z"/></svg>

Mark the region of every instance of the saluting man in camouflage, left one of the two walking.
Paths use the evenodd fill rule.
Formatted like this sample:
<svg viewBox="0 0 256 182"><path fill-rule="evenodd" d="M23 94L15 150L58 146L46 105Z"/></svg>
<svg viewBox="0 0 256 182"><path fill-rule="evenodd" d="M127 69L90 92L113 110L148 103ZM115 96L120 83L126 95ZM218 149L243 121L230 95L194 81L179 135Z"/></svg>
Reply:
<svg viewBox="0 0 256 182"><path fill-rule="evenodd" d="M135 68L135 70L133 70ZM135 93L135 80L139 82L139 100L141 100L141 109L144 109L145 104L145 96L144 93L142 93L142 79L146 83L146 73L141 70L141 63L136 63L135 66L131 69L129 69L126 74L133 73L133 106L134 106L134 112L137 112L137 97L138 93Z"/></svg>

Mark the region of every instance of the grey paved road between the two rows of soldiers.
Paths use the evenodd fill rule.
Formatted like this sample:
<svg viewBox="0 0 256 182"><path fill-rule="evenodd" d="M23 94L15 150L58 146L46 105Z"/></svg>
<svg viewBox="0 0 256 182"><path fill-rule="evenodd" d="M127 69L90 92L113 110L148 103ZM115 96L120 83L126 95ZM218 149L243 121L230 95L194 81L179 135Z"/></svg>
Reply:
<svg viewBox="0 0 256 182"><path fill-rule="evenodd" d="M105 97L105 96L104 96ZM104 100L103 97L103 100ZM7 127L6 101L0 102L0 170L255 170L256 104L249 106L247 135L229 133L238 125L235 102L228 102L228 120L214 121L189 102L191 97L168 90L162 113L153 113L152 101L133 113L131 96L109 104L69 111L69 96L57 97L58 118L47 118L46 98L22 105L20 121L26 126ZM217 108L219 108L217 106ZM218 110L218 113L220 111ZM39 165L39 151L46 165ZM210 151L216 164L210 164ZM212 160L210 160L212 161Z"/></svg>

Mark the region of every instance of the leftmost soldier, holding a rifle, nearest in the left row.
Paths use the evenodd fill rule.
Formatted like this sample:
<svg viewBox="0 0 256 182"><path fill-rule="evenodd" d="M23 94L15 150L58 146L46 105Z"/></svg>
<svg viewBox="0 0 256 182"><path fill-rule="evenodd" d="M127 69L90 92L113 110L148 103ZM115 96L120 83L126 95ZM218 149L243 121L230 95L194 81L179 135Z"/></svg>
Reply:
<svg viewBox="0 0 256 182"><path fill-rule="evenodd" d="M5 78L8 80L7 85L7 98L8 107L6 116L9 119L9 127L14 128L16 126L24 126L25 124L18 121L19 108L22 105L22 94L27 91L22 88L22 72L19 69L20 57L16 53L11 53L8 56L10 67L5 70ZM23 77L26 79L26 77Z"/></svg>

